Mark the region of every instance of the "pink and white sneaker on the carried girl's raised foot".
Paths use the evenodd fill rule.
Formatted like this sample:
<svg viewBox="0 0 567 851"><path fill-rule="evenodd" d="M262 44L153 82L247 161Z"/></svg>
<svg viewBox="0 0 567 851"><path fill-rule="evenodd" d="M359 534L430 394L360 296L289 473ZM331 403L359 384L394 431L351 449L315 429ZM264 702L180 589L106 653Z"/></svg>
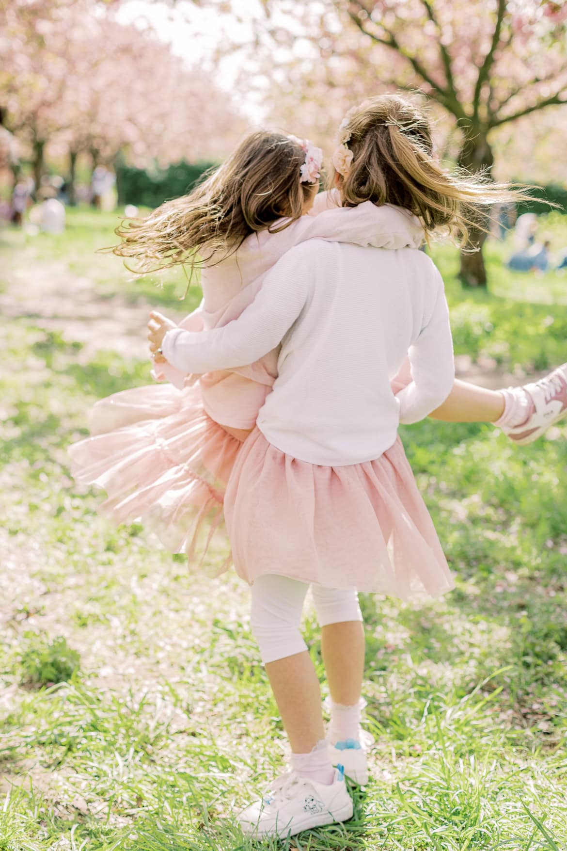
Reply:
<svg viewBox="0 0 567 851"><path fill-rule="evenodd" d="M503 427L502 431L524 446L541 437L549 426L567 416L567 363L553 370L553 373L533 384L526 384L524 391L534 403L534 411L521 426Z"/></svg>

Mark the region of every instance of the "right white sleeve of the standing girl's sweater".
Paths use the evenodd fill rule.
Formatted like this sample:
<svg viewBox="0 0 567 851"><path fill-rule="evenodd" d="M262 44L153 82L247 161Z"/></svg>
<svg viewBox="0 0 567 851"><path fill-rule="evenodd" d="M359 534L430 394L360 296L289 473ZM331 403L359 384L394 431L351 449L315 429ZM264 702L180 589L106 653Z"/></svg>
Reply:
<svg viewBox="0 0 567 851"><path fill-rule="evenodd" d="M445 288L439 271L434 309L421 334L408 351L411 365L411 383L401 390L400 423L409 425L431 414L451 393L455 381L455 359L449 323L449 309Z"/></svg>

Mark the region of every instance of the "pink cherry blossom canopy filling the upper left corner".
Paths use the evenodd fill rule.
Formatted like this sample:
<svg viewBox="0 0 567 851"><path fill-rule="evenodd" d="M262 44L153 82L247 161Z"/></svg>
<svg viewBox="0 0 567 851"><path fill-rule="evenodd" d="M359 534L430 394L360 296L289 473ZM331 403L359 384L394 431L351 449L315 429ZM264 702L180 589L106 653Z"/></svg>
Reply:
<svg viewBox="0 0 567 851"><path fill-rule="evenodd" d="M0 0L0 107L31 150L36 184L49 146L69 151L71 195L80 151L94 165L220 157L241 118L201 71L150 29L122 25L117 3Z"/></svg>

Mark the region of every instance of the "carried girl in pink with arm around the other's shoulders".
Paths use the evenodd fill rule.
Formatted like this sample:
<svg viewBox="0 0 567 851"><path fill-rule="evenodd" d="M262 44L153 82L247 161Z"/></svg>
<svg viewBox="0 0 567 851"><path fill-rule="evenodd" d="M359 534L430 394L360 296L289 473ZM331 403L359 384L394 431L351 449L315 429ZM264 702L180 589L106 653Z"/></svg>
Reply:
<svg viewBox="0 0 567 851"><path fill-rule="evenodd" d="M336 189L317 194L320 162L320 150L308 141L266 131L251 134L190 195L119 230L122 244L115 253L133 260L139 272L181 263L202 266L201 306L179 326L199 331L240 316L266 272L308 239L375 248L422 244L419 207L406 208L404 199L385 192L377 204L360 198L341 206ZM206 551L223 519L224 488L274 384L277 357L276 347L256 363L200 376L158 363L155 377L169 383L134 387L94 405L91 437L71 448L74 477L105 488L100 508L116 523L140 519L169 550L185 552L191 568L211 576L223 573L230 558L225 563L195 559L196 542L207 528ZM491 422L515 442L530 443L567 413L566 377L564 367L537 385L504 391L457 380L431 415ZM406 360L394 390L410 380Z"/></svg>

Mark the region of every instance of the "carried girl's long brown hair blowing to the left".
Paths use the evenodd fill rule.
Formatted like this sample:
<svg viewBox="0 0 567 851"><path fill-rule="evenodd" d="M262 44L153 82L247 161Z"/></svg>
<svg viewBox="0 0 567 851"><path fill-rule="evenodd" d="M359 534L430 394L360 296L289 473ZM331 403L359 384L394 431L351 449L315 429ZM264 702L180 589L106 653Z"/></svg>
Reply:
<svg viewBox="0 0 567 851"><path fill-rule="evenodd" d="M300 182L304 162L297 140L266 130L249 134L189 195L122 222L122 243L112 251L133 260L137 273L216 265L255 231L281 231L303 214L318 186Z"/></svg>

